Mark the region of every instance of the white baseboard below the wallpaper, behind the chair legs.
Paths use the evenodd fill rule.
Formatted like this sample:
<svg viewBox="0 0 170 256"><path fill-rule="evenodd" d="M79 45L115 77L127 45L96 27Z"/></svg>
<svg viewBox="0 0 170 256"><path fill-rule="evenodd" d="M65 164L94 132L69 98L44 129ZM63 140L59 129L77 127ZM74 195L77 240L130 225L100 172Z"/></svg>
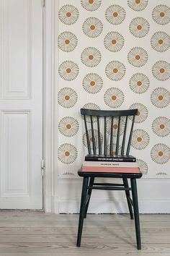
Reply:
<svg viewBox="0 0 170 256"><path fill-rule="evenodd" d="M60 180L55 213L79 213L82 180ZM169 179L138 180L140 213L170 213ZM128 213L125 192L94 191L89 213Z"/></svg>

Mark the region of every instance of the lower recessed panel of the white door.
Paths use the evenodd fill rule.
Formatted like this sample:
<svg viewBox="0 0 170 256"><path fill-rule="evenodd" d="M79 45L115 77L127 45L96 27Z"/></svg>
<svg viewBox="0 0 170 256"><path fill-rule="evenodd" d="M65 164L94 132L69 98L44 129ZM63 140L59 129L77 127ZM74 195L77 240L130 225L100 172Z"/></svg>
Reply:
<svg viewBox="0 0 170 256"><path fill-rule="evenodd" d="M1 125L1 197L29 197L30 112L2 111Z"/></svg>

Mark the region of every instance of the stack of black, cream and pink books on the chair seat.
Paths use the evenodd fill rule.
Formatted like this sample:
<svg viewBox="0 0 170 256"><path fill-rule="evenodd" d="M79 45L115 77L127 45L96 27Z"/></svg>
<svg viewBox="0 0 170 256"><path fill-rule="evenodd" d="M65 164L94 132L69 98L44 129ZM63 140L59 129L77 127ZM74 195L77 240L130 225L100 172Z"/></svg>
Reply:
<svg viewBox="0 0 170 256"><path fill-rule="evenodd" d="M82 171L108 173L139 173L133 155L86 155Z"/></svg>

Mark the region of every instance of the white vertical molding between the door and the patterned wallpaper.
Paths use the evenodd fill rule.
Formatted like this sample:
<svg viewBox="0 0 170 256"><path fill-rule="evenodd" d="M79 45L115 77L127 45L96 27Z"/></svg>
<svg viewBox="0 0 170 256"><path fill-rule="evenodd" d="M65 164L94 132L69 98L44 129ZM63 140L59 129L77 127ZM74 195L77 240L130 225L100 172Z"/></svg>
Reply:
<svg viewBox="0 0 170 256"><path fill-rule="evenodd" d="M45 212L54 211L55 170L55 0L45 1L44 12L44 158L43 202ZM54 182L55 181L55 182ZM57 209L55 208L55 212Z"/></svg>

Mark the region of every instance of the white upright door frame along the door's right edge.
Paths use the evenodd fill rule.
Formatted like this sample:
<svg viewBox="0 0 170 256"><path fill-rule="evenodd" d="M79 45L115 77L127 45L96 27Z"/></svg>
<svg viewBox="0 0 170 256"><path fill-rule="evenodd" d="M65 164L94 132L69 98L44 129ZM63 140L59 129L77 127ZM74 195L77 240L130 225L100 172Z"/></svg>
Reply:
<svg viewBox="0 0 170 256"><path fill-rule="evenodd" d="M43 8L43 210L58 213L58 1L45 1Z"/></svg>

